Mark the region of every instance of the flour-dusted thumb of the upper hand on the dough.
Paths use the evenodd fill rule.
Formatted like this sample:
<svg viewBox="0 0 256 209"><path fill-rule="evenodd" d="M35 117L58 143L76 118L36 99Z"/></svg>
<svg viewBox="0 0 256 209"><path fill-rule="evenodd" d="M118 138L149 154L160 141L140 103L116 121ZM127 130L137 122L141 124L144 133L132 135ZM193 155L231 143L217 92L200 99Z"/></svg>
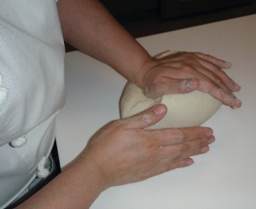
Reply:
<svg viewBox="0 0 256 209"><path fill-rule="evenodd" d="M150 98L159 98L160 96L188 93L196 90L200 82L195 78L166 78L160 84L152 84L144 92L145 96Z"/></svg>

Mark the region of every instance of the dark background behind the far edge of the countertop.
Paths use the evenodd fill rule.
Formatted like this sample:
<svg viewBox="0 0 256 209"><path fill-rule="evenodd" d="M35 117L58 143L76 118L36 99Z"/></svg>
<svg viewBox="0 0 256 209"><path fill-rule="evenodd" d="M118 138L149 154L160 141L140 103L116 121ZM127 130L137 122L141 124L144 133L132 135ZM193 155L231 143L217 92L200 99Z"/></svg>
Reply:
<svg viewBox="0 0 256 209"><path fill-rule="evenodd" d="M134 38L256 14L256 0L102 0L101 2ZM73 47L66 44L66 50L71 51Z"/></svg>

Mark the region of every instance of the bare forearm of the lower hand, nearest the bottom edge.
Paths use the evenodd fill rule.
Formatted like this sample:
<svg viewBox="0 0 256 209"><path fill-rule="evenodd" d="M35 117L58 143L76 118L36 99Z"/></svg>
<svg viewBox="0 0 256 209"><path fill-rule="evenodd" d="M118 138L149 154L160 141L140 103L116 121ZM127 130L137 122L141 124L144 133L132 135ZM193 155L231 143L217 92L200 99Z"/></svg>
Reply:
<svg viewBox="0 0 256 209"><path fill-rule="evenodd" d="M104 181L93 162L76 160L18 208L89 208L105 189Z"/></svg>

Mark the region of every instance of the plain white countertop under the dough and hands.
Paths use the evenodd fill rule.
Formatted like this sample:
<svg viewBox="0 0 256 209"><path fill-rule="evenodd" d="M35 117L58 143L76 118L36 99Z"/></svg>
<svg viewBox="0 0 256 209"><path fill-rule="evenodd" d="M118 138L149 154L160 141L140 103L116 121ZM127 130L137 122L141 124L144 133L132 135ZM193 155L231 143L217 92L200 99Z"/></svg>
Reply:
<svg viewBox="0 0 256 209"><path fill-rule="evenodd" d="M213 128L216 142L209 153L194 157L194 165L108 189L91 208L256 208L256 15L137 40L151 55L166 49L202 51L231 61L226 72L241 85L236 96L243 105L223 106L204 124ZM110 67L79 52L67 53L66 80L67 105L57 119L61 166L102 125L119 118L125 85Z"/></svg>

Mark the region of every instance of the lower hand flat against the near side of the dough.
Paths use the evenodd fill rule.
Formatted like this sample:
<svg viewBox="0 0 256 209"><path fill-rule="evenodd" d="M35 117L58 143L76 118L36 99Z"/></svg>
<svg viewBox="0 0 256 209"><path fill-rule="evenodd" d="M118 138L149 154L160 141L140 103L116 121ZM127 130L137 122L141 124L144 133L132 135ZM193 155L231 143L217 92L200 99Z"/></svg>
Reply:
<svg viewBox="0 0 256 209"><path fill-rule="evenodd" d="M106 189L191 165L192 155L209 150L208 144L214 142L210 128L144 129L165 114L166 106L157 105L113 121L92 136L83 155L102 172Z"/></svg>

